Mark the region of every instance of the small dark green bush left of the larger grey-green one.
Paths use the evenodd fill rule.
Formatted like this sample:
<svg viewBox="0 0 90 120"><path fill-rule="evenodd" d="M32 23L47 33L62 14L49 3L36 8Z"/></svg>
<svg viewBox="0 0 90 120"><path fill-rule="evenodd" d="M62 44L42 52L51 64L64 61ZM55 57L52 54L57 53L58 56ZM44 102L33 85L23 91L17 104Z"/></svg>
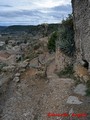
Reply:
<svg viewBox="0 0 90 120"><path fill-rule="evenodd" d="M57 38L58 38L58 33L53 32L51 37L49 38L48 45L47 45L48 49L49 49L49 52L55 52Z"/></svg>

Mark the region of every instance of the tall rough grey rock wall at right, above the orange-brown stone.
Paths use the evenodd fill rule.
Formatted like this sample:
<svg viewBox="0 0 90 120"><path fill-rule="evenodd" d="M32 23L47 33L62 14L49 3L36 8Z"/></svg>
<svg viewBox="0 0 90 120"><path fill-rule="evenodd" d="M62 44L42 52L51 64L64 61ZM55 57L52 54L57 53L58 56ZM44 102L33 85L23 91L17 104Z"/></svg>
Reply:
<svg viewBox="0 0 90 120"><path fill-rule="evenodd" d="M72 8L77 60L90 62L90 0L72 0Z"/></svg>

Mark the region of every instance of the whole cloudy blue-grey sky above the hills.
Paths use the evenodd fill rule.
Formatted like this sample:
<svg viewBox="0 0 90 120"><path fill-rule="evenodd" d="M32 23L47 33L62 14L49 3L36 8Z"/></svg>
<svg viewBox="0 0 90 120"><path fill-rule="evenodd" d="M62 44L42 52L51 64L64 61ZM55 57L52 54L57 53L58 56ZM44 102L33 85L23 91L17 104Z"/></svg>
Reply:
<svg viewBox="0 0 90 120"><path fill-rule="evenodd" d="M60 23L71 12L71 0L0 0L0 25Z"/></svg>

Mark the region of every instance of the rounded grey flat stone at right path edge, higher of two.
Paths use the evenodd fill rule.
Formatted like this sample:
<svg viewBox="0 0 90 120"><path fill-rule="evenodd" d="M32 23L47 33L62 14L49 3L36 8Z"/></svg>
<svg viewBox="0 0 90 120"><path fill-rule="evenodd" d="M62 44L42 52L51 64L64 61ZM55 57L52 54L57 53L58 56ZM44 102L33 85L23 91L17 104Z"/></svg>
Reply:
<svg viewBox="0 0 90 120"><path fill-rule="evenodd" d="M86 95L86 92L85 92L86 90L87 90L86 85L79 84L75 87L74 93L84 96L84 95Z"/></svg>

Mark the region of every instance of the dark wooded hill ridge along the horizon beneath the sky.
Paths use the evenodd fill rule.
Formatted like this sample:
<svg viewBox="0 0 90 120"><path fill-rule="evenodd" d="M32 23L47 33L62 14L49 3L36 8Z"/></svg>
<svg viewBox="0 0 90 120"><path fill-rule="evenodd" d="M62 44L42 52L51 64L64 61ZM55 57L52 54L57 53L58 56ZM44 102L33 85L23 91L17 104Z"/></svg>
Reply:
<svg viewBox="0 0 90 120"><path fill-rule="evenodd" d="M49 35L53 31L57 31L60 24L41 24L41 25L13 25L8 27L0 27L1 33L8 33L8 34L21 34L21 33L29 33L33 36L38 35Z"/></svg>

